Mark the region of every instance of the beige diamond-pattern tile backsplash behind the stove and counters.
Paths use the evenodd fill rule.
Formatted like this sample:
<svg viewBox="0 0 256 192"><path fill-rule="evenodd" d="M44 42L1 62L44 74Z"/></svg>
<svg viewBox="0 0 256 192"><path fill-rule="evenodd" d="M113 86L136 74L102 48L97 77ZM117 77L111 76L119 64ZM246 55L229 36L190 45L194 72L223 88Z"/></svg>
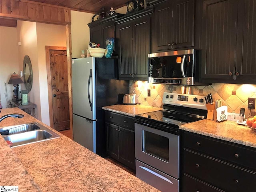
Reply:
<svg viewBox="0 0 256 192"><path fill-rule="evenodd" d="M162 97L164 92L180 93L181 86L152 84L147 81L130 81L130 93L137 94L138 102L142 105L162 107ZM150 96L148 96L150 90ZM248 97L256 98L256 85L250 84L212 84L209 86L192 86L191 94L207 95L213 94L214 100L221 100L222 105L228 106L228 112L239 113L240 108L245 108L246 118L250 110ZM255 115L252 110L251 115Z"/></svg>

